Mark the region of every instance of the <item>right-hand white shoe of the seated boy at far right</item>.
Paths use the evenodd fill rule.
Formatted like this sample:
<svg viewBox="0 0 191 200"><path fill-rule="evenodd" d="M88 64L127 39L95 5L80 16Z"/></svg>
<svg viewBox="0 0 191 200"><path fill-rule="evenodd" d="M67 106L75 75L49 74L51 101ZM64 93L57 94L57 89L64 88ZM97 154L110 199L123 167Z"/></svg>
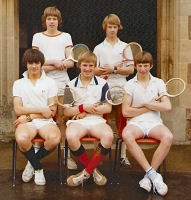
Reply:
<svg viewBox="0 0 191 200"><path fill-rule="evenodd" d="M162 176L157 173L156 178L152 181L153 191L160 194L161 196L166 195L168 192L168 186L163 182Z"/></svg>

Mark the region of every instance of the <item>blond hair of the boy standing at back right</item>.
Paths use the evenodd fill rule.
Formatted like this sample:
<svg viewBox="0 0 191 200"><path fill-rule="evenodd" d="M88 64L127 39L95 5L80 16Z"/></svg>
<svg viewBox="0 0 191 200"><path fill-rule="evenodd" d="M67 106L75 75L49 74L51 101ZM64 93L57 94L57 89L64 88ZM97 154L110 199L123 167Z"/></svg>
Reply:
<svg viewBox="0 0 191 200"><path fill-rule="evenodd" d="M106 30L108 24L118 25L119 30L123 29L121 21L116 14L109 14L105 17L105 19L102 22L102 28L104 31Z"/></svg>

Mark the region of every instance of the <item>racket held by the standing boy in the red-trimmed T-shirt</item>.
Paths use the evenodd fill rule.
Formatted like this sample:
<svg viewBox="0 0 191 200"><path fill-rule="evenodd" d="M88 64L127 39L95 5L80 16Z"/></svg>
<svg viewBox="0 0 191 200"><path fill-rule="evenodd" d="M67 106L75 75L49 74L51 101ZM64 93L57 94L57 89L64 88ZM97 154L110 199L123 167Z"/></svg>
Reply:
<svg viewBox="0 0 191 200"><path fill-rule="evenodd" d="M72 47L69 57L66 60L73 60L74 62L78 62L79 56L89 51L89 48L85 44L76 44Z"/></svg>

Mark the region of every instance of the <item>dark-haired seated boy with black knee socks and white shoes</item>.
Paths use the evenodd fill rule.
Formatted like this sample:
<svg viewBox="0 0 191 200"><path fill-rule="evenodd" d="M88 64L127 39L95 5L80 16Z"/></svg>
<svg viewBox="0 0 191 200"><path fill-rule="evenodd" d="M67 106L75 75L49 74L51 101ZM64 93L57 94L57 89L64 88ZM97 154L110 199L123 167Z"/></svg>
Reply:
<svg viewBox="0 0 191 200"><path fill-rule="evenodd" d="M27 71L24 78L13 85L14 110L18 119L15 125L15 138L19 149L28 159L22 180L29 182L33 175L37 185L45 185L46 180L40 160L50 154L61 139L61 133L52 117L57 106L53 105L57 86L53 79L42 71L44 55L35 49L28 49L23 56ZM31 140L39 134L45 142L35 154Z"/></svg>

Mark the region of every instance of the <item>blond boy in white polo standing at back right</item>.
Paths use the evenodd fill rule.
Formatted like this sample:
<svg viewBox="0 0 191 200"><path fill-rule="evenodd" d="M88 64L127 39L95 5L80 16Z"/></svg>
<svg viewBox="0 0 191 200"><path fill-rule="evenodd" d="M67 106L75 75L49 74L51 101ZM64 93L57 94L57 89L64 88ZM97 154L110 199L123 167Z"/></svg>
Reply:
<svg viewBox="0 0 191 200"><path fill-rule="evenodd" d="M106 38L94 49L97 56L95 75L107 77L109 87L116 85L124 87L126 77L134 72L134 63L125 62L122 64L122 52L127 43L122 42L117 36L118 31L123 29L119 17L115 14L109 14L103 20L102 28L106 33ZM132 56L131 52L129 54ZM114 109L118 128L121 106L115 106ZM122 144L120 162L124 167L130 165L126 157L126 145L124 143Z"/></svg>

